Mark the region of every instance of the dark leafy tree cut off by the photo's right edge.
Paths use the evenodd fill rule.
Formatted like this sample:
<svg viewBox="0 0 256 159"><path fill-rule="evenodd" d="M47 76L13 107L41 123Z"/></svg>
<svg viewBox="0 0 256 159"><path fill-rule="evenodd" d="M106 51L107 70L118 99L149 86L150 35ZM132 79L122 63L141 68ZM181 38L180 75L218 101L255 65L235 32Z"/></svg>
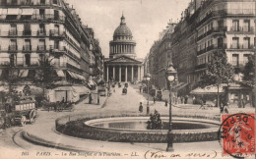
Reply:
<svg viewBox="0 0 256 159"><path fill-rule="evenodd" d="M243 81L249 85L255 85L255 55L250 55L248 57L248 63L245 64L243 70Z"/></svg>

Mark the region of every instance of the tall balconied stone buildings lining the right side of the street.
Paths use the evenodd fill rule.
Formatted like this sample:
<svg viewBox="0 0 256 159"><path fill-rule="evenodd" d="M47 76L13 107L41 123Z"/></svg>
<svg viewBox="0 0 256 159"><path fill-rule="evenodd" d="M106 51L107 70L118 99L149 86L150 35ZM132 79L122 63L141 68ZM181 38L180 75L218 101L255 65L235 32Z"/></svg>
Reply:
<svg viewBox="0 0 256 159"><path fill-rule="evenodd" d="M255 52L255 1L193 0L182 12L170 37L172 63L185 92L195 87L205 74L212 55L219 50L224 51L227 62L233 66L234 80L241 81L241 70L248 56ZM156 52L160 52L160 47ZM151 52L149 55L153 57L152 61L158 61L160 57L155 54ZM158 68L150 62L149 65ZM154 71L151 74L160 77ZM229 86L231 103L244 96L251 98L250 89L234 85Z"/></svg>

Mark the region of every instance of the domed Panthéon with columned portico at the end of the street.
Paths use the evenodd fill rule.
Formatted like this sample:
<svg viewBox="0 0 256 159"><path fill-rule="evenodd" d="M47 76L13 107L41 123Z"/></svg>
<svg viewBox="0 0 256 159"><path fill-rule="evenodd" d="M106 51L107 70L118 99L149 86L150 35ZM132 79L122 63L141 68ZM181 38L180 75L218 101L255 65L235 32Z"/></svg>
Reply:
<svg viewBox="0 0 256 159"><path fill-rule="evenodd" d="M136 59L136 42L133 40L132 31L126 26L124 16L121 17L120 26L109 42L109 58L105 59L106 81L138 81L144 75L142 62Z"/></svg>

